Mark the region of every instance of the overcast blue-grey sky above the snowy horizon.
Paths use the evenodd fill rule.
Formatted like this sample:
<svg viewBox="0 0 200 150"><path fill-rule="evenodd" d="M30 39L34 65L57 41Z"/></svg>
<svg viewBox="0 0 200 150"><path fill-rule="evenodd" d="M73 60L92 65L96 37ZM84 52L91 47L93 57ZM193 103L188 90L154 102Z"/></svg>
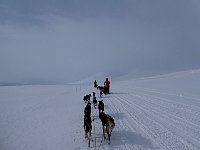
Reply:
<svg viewBox="0 0 200 150"><path fill-rule="evenodd" d="M199 0L0 0L0 82L193 68Z"/></svg>

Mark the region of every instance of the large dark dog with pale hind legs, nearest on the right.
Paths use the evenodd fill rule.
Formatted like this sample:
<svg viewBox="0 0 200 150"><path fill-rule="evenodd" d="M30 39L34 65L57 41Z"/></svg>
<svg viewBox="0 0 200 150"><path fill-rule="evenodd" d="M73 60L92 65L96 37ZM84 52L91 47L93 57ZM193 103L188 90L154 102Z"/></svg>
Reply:
<svg viewBox="0 0 200 150"><path fill-rule="evenodd" d="M105 114L104 112L100 112L99 118L102 122L103 137L104 137L104 139L106 139L106 135L105 135L105 131L106 131L106 133L108 135L108 141L110 144L110 137L111 137L112 130L115 127L115 121L110 115Z"/></svg>

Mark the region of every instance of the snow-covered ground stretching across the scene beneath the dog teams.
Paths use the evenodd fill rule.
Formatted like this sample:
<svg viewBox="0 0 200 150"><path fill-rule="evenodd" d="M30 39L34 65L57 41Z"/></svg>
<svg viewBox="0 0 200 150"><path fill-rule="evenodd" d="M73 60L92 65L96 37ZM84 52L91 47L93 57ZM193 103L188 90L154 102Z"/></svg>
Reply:
<svg viewBox="0 0 200 150"><path fill-rule="evenodd" d="M103 82L103 81L98 81ZM85 94L91 83L0 87L0 150L89 149L84 138ZM102 141L92 110L90 149L199 150L200 70L114 81L98 98L116 126Z"/></svg>

